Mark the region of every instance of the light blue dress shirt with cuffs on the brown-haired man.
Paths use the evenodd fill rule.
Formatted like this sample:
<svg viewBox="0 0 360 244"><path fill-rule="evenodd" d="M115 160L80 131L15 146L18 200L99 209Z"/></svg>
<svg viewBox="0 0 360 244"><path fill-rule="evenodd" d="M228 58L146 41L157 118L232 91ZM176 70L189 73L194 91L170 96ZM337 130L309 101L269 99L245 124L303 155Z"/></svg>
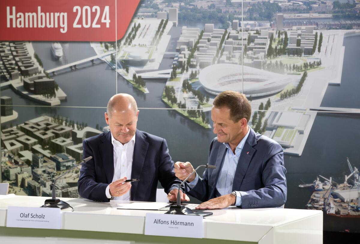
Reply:
<svg viewBox="0 0 360 244"><path fill-rule="evenodd" d="M249 130L247 134L237 145L235 149L235 154L231 150L229 143L224 143L227 150L224 158L224 163L222 163L219 179L217 179L217 183L216 183L216 190L215 190L216 197L226 194L231 194L231 192L233 191L232 189L233 189L236 167L238 166L240 154L244 148L246 139L250 134L250 127L248 127L248 129ZM187 182L187 185L190 187L190 189L193 189L193 187L195 187L195 185L197 184L198 180L199 180L199 175L197 174L195 180L193 180L190 183ZM241 196L246 194L247 193L244 191L236 191L236 202L235 202L236 206L241 207Z"/></svg>

